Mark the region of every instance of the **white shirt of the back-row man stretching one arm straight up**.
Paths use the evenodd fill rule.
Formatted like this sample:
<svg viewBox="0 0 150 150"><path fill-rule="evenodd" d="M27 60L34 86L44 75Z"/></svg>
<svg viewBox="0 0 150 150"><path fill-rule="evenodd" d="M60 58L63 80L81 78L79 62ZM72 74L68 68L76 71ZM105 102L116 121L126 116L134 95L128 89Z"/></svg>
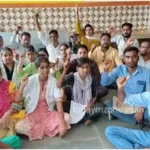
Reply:
<svg viewBox="0 0 150 150"><path fill-rule="evenodd" d="M57 58L60 56L60 44L57 47L54 47L46 33L38 32L38 37L46 46L47 52L49 54L49 61L55 63Z"/></svg>

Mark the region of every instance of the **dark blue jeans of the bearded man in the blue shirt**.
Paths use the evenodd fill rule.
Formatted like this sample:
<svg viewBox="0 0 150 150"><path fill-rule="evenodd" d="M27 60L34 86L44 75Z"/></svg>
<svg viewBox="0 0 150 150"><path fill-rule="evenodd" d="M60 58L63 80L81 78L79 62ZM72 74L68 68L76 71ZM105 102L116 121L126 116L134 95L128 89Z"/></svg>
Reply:
<svg viewBox="0 0 150 150"><path fill-rule="evenodd" d="M136 124L136 120L134 120L135 114L123 114L123 113L120 113L119 111L113 109L113 101L112 100L106 100L104 102L104 105L108 108L108 111L110 111L111 115L117 117L118 119L120 119L124 122ZM144 110L144 119L149 119L147 109Z"/></svg>

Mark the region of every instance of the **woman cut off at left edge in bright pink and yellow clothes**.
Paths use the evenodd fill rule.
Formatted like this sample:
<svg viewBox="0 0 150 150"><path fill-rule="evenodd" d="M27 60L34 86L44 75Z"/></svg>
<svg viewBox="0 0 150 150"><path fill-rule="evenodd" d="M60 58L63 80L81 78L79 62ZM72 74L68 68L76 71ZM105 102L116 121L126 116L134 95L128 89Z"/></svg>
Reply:
<svg viewBox="0 0 150 150"><path fill-rule="evenodd" d="M0 70L0 139L14 135L14 126L25 118L21 105L14 103L16 90L14 83L2 77Z"/></svg>

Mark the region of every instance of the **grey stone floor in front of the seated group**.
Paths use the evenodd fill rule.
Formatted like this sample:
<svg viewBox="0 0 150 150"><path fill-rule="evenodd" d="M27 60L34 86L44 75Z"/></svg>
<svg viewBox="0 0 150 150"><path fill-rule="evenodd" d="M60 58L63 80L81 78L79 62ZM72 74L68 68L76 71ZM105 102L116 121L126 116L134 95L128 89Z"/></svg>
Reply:
<svg viewBox="0 0 150 150"><path fill-rule="evenodd" d="M115 94L115 90L111 90L109 95L104 99L110 99ZM108 120L107 114L104 114L96 122L89 126L84 124L74 125L68 131L65 137L45 137L43 140L29 142L28 138L21 136L23 149L114 149L115 147L106 139L105 129L107 126L115 125L127 128L139 129L119 120Z"/></svg>

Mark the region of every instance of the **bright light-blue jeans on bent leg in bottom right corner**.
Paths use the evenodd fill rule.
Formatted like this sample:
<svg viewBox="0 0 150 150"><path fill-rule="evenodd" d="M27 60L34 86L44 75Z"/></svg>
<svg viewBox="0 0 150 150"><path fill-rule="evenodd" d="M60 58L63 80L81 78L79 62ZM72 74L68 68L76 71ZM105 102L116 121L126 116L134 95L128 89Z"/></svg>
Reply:
<svg viewBox="0 0 150 150"><path fill-rule="evenodd" d="M150 132L109 126L105 135L118 149L150 148Z"/></svg>

